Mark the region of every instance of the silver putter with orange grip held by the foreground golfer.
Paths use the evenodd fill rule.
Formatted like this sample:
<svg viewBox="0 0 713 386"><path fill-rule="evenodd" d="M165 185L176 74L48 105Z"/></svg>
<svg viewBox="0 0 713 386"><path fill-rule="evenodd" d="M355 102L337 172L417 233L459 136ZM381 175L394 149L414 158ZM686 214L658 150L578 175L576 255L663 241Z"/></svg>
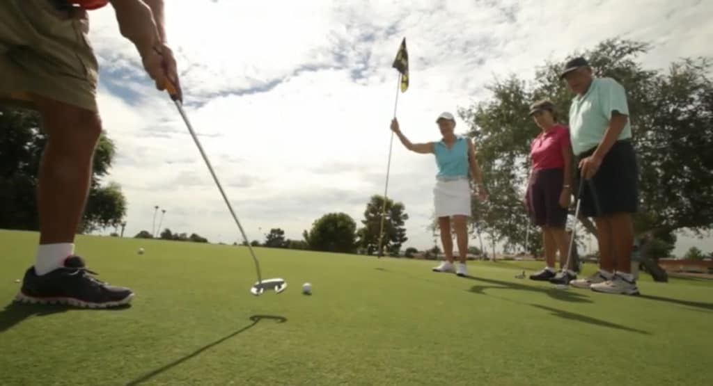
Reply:
<svg viewBox="0 0 713 386"><path fill-rule="evenodd" d="M220 190L220 194L222 195L223 201L225 201L225 205L227 205L227 209L230 210L230 214L232 214L232 219L235 220L235 224L237 224L237 229L240 230L240 234L242 235L243 241L245 241L245 244L247 245L247 248L250 249L250 256L252 256L252 261L255 261L255 271L257 271L257 282L253 284L252 288L250 288L250 293L252 293L255 296L260 296L263 292L265 291L275 291L276 293L281 293L282 291L287 288L287 281L284 281L282 278L269 278L262 280L262 275L260 274L260 263L257 261L257 256L255 256L255 250L252 249L252 246L250 245L250 242L247 239L247 236L245 235L245 231L242 229L242 225L240 225L240 221L237 219L237 216L235 215L235 211L232 210L232 206L230 205L230 201L227 199L227 195L225 194L225 191L222 189L222 185L220 184L220 181L218 181L217 176L215 175L215 172L213 171L213 167L210 165L210 161L208 161L208 157L205 155L205 152L203 151L203 147L200 145L200 141L198 140L198 136L195 135L195 131L193 130L193 126L190 125L190 121L188 120L188 117L185 115L185 111L183 111L183 103L181 103L180 100L176 97L178 95L178 92L173 85L173 83L170 82L170 80L165 80L164 81L164 87L166 91L168 91L168 95L170 95L171 100L173 100L173 103L175 103L176 108L178 108L178 113L180 113L181 118L183 118L183 122L185 122L186 127L188 127L188 132L190 132L190 136L193 137L193 142L195 142L195 145L198 147L198 151L200 152L200 155L203 157L203 160L205 161L205 165L208 167L208 170L210 171L210 175L213 177L213 181L215 181L215 185L218 187L218 190Z"/></svg>

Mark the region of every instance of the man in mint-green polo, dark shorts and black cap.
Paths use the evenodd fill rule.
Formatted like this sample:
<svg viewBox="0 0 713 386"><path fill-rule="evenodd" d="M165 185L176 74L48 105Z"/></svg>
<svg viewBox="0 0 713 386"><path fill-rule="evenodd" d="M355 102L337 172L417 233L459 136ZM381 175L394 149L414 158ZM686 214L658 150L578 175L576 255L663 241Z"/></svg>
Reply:
<svg viewBox="0 0 713 386"><path fill-rule="evenodd" d="M561 78L577 94L569 123L578 176L586 181L580 212L595 220L601 255L599 271L570 285L638 295L630 264L638 169L626 92L612 78L595 78L585 58L569 61Z"/></svg>

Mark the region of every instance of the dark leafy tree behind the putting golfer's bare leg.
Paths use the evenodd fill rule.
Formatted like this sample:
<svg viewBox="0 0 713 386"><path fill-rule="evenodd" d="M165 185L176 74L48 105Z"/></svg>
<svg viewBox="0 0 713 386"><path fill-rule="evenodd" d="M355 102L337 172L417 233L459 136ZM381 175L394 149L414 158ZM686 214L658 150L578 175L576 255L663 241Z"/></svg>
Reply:
<svg viewBox="0 0 713 386"><path fill-rule="evenodd" d="M34 110L0 105L0 228L39 230L36 186L47 135ZM93 158L91 189L79 232L117 226L126 199L116 183L101 186L116 154L114 143L101 134Z"/></svg>

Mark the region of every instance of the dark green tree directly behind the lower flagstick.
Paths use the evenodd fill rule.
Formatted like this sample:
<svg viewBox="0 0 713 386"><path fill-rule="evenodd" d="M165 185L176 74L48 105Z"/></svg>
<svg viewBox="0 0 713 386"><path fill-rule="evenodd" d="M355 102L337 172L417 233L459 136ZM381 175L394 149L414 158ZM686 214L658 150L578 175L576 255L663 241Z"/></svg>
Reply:
<svg viewBox="0 0 713 386"><path fill-rule="evenodd" d="M358 244L366 249L367 254L378 252L379 231L381 231L381 214L384 209L384 196L378 194L371 197L364 210L364 220L358 231ZM386 216L384 216L384 239L382 248L389 251L391 256L396 256L401 250L401 245L409 240L406 237L406 220L409 215L405 212L406 207L401 202L394 203L394 200L386 200Z"/></svg>

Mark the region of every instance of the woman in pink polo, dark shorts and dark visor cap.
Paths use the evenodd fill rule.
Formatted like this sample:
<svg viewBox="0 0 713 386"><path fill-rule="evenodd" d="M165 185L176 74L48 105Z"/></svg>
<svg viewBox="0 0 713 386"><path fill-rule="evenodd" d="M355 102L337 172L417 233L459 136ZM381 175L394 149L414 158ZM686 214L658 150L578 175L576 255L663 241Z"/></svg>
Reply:
<svg viewBox="0 0 713 386"><path fill-rule="evenodd" d="M532 280L569 283L577 278L565 268L568 240L565 231L572 195L572 147L567 127L557 122L555 106L540 100L530 106L530 116L542 129L530 145L530 180L525 203L535 225L542 227L547 266L530 276ZM560 251L560 272L555 255ZM573 266L570 263L570 266Z"/></svg>

